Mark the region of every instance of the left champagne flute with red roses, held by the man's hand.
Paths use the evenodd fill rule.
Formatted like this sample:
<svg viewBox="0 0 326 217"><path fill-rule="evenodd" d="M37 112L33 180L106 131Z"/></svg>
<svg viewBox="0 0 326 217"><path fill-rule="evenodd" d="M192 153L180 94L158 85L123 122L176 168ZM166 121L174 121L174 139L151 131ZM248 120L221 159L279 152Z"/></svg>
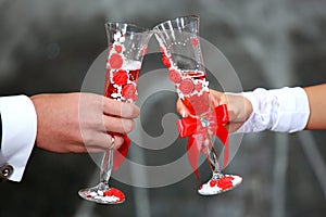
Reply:
<svg viewBox="0 0 326 217"><path fill-rule="evenodd" d="M147 52L151 31L126 23L105 24L109 54L106 61L104 95L122 102L135 103L137 100L137 80ZM108 132L111 136L125 135ZM110 186L113 170L113 150L109 149L102 158L100 183L79 190L83 199L101 204L120 204L125 201L122 191Z"/></svg>

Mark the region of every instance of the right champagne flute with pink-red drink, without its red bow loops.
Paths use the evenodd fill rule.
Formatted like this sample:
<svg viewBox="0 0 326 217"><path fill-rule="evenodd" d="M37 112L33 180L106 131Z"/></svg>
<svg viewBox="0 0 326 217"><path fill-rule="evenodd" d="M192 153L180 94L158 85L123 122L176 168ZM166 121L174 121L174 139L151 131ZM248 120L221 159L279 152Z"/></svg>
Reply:
<svg viewBox="0 0 326 217"><path fill-rule="evenodd" d="M199 17L176 17L156 25L153 31L160 44L163 64L168 68L170 79L174 82L180 101L189 115L200 123L197 131L202 132L197 132L197 139L208 148L206 158L213 175L198 192L202 195L214 195L237 187L242 178L222 174L221 170L227 165L228 155L224 152L224 164L221 167L212 142L210 129L216 126L217 118L211 115L209 81L198 38ZM224 150L226 148L225 145Z"/></svg>

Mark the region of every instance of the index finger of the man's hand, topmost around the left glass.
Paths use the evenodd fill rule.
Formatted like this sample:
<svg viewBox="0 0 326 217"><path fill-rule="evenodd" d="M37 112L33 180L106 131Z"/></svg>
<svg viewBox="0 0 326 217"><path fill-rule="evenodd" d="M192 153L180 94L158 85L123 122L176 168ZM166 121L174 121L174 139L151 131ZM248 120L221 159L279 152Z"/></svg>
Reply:
<svg viewBox="0 0 326 217"><path fill-rule="evenodd" d="M133 103L120 102L109 98L103 98L103 113L125 118L136 118L139 116L140 110Z"/></svg>

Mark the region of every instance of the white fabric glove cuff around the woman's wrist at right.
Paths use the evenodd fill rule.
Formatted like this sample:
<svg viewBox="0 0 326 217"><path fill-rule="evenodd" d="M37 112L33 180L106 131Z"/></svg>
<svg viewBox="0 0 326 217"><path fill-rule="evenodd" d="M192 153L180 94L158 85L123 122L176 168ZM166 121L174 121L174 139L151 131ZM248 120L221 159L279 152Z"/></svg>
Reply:
<svg viewBox="0 0 326 217"><path fill-rule="evenodd" d="M242 92L242 95L251 102L253 112L236 132L296 132L303 130L308 123L309 100L300 87L274 90L258 88L252 92Z"/></svg>

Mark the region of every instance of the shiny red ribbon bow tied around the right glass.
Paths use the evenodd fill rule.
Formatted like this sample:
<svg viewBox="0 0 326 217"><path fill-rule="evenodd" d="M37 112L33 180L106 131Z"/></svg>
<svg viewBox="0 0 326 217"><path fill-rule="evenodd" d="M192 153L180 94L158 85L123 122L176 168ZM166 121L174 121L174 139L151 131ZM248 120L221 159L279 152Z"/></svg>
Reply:
<svg viewBox="0 0 326 217"><path fill-rule="evenodd" d="M228 162L228 131L224 127L228 123L228 112L226 104L218 105L204 116L206 124L204 125L198 117L185 117L177 120L177 127L180 138L189 137L187 143L187 155L189 163L200 181L198 174L198 158L200 155L200 146L208 137L208 132L213 132L224 144L224 166Z"/></svg>

